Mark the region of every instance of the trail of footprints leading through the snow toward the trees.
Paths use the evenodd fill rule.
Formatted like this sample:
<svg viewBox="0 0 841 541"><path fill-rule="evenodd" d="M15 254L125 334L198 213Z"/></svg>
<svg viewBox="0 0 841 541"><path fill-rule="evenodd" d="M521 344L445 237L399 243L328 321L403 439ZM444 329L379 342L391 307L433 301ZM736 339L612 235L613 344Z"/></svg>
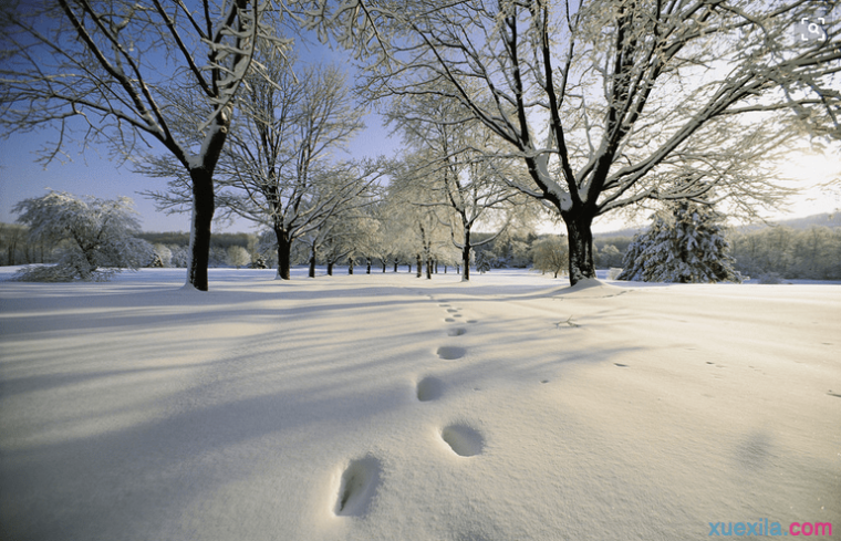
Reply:
<svg viewBox="0 0 841 541"><path fill-rule="evenodd" d="M427 296L433 301L435 300L433 295ZM447 316L444 319L446 323L463 321L459 309L447 303L438 305L446 309ZM476 321L468 320L467 323L476 323ZM466 333L467 329L463 326L447 329L447 336L450 337L463 336ZM439 346L435 354L443 361L455 361L464 357L467 354L467 348L447 344ZM427 375L417 382L417 400L422 403L437 400L444 396L445 388L444 381ZM465 423L445 426L439 435L453 452L460 457L474 457L481 454L485 448L485 438L481 433ZM342 472L333 513L338 517L365 516L380 485L381 472L382 464L378 458L372 455L351 460Z"/></svg>

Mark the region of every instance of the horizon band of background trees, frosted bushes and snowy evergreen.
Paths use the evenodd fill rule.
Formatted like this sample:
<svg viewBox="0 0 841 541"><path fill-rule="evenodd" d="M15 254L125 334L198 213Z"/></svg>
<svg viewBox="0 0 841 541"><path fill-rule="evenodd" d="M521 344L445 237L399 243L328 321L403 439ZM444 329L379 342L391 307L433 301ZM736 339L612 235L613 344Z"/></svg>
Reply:
<svg viewBox="0 0 841 541"><path fill-rule="evenodd" d="M408 206L417 210L418 207ZM428 207L419 207L429 212ZM339 261L382 266L382 271L394 263L412 269L422 261L427 264L427 277L438 264L464 266L461 250L453 242L454 231L447 223L435 221L417 223L395 220L399 214L385 212L384 220L370 209L365 228L342 228L343 233L333 243L320 243L328 238L323 231L302 237L290 249L290 262L310 263L314 275L316 263L332 267ZM77 198L51 191L44 197L27 199L15 206L25 226L0 225L2 262L56 263L25 269L25 280L101 280L122 267L186 267L188 263L187 237L184 233L141 233L131 200L114 201L92 197ZM408 215L412 217L412 214ZM740 281L741 275L775 281L781 278L841 279L841 228L812 226L795 230L772 227L745 232L727 232L724 217L709 205L678 202L671 211L654 215L652 226L630 239L606 239L595 249L596 266L623 266L619 275L624 280L655 282L716 282ZM415 218L412 218L415 219ZM424 229L429 226L429 229ZM387 228L403 235L385 235ZM414 231L414 235L413 235ZM209 264L266 268L277 256L273 231L262 236L222 235L215 239ZM425 233L418 235L418 233ZM436 235L437 233L437 235ZM533 267L551 272L557 278L568 266L569 250L564 239L554 235L518 236L510 230L501 233L475 233L475 264L478 270L491 267ZM153 245L154 241L155 243ZM428 243L424 243L428 241ZM164 242L169 242L164 243ZM329 249L325 249L329 248ZM428 248L422 258L418 250ZM17 261L15 261L17 259ZM467 264L471 262L468 259ZM434 267L433 267L434 266Z"/></svg>

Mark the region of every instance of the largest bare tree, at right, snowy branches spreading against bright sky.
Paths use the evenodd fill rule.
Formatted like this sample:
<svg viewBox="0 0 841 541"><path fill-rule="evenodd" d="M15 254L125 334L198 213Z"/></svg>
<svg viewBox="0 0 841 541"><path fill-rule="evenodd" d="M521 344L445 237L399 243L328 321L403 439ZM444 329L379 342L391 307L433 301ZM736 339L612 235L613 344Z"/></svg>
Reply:
<svg viewBox="0 0 841 541"><path fill-rule="evenodd" d="M838 13L771 0L318 0L304 18L371 59L372 100L461 104L563 219L570 281L594 278L598 216L708 190L754 214L795 135L838 139ZM822 19L819 40L798 35ZM481 150L481 149L479 149ZM693 181L675 183L691 178ZM715 201L713 201L715 202Z"/></svg>

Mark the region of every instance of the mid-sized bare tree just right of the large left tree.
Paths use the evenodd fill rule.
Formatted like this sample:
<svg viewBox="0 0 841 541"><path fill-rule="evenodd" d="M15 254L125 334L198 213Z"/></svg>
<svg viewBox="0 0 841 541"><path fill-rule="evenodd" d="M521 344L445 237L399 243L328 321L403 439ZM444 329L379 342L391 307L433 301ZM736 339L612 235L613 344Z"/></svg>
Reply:
<svg viewBox="0 0 841 541"><path fill-rule="evenodd" d="M294 75L273 69L272 84L255 82L242 95L242 126L226 160L226 185L245 196L231 209L269 226L278 239L278 277L290 278L290 248L385 174L384 162L335 162L334 154L364 128L336 66L308 66Z"/></svg>

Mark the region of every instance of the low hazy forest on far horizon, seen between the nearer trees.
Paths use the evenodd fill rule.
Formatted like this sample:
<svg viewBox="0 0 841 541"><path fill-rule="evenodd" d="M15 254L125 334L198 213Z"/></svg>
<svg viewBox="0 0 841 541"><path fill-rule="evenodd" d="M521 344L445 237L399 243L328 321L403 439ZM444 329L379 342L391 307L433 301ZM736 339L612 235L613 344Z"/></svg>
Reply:
<svg viewBox="0 0 841 541"><path fill-rule="evenodd" d="M625 229L595 235L594 251L598 268L621 268L622 259L633 236L642 229ZM487 238L487 233L475 233L475 241ZM186 264L189 233L143 232L156 252L167 251L167 266ZM495 241L476 249L477 261L488 268L528 268L533 264L536 242L551 235L502 235ZM781 221L777 225L751 225L728 231L730 254L736 260L736 270L747 278L764 281L808 279L841 280L841 215L822 214L807 218ZM211 240L211 267L229 264L229 249L241 247L248 251L253 262L273 267L276 254L271 236L255 233L215 233ZM293 261L303 264L309 258L307 247L295 247ZM445 253L445 252L443 252ZM27 229L20 225L0 223L0 266L50 263L55 261L56 247L31 242ZM368 258L357 253L356 264L365 264ZM382 262L371 258L373 264L391 267L393 261ZM406 256L401 264L414 263ZM456 261L442 256L438 264L455 267ZM405 268L404 268L405 269Z"/></svg>

